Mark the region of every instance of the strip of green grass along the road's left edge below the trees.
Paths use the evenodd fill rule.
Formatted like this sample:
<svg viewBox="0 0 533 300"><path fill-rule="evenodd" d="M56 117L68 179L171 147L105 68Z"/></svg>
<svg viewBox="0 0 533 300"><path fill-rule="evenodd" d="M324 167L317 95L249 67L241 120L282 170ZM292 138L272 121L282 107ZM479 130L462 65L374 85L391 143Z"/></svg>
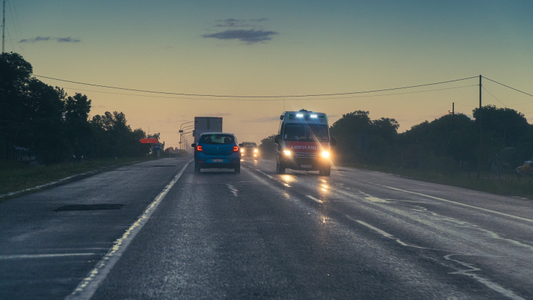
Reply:
<svg viewBox="0 0 533 300"><path fill-rule="evenodd" d="M137 161L153 159L157 158L99 158L83 160L81 163L70 162L54 165L29 165L28 162L18 160L0 160L0 194L26 190L76 174L90 171L102 172Z"/></svg>

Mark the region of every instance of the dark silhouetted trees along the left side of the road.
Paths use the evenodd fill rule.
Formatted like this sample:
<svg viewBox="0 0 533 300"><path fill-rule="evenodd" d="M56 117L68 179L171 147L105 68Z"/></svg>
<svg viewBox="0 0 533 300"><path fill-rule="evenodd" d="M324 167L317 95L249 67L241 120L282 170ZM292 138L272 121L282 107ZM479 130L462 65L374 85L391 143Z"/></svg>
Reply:
<svg viewBox="0 0 533 300"><path fill-rule="evenodd" d="M124 113L90 118L91 100L86 95L69 96L32 77L32 72L18 53L0 55L1 160L15 159L19 149L28 149L42 163L150 153L150 144L139 142L146 133L132 130Z"/></svg>

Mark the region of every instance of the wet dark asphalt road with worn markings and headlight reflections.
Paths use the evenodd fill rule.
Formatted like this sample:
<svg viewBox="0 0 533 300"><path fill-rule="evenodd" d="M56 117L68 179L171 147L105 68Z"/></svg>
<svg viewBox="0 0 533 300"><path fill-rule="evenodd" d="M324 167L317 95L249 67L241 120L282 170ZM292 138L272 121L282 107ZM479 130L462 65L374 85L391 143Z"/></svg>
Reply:
<svg viewBox="0 0 533 300"><path fill-rule="evenodd" d="M0 299L533 299L532 201L339 169L163 159L10 199Z"/></svg>

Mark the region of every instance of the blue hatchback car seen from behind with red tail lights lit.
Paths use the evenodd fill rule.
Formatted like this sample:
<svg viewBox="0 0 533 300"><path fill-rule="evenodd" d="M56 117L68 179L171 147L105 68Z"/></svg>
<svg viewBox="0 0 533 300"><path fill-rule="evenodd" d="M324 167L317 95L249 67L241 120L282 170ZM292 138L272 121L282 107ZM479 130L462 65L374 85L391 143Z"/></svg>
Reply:
<svg viewBox="0 0 533 300"><path fill-rule="evenodd" d="M232 133L202 133L194 147L194 172L200 169L235 169L241 172L241 151Z"/></svg>

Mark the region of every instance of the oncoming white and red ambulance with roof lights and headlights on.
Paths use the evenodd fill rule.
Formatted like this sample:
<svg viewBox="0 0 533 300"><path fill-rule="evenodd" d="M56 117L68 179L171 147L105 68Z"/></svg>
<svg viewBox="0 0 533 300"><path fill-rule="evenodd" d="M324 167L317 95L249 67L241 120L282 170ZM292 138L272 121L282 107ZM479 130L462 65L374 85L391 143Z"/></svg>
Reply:
<svg viewBox="0 0 533 300"><path fill-rule="evenodd" d="M337 144L330 137L328 117L325 113L308 110L286 111L280 116L276 142L276 172L285 169L319 171L330 176L330 147Z"/></svg>

